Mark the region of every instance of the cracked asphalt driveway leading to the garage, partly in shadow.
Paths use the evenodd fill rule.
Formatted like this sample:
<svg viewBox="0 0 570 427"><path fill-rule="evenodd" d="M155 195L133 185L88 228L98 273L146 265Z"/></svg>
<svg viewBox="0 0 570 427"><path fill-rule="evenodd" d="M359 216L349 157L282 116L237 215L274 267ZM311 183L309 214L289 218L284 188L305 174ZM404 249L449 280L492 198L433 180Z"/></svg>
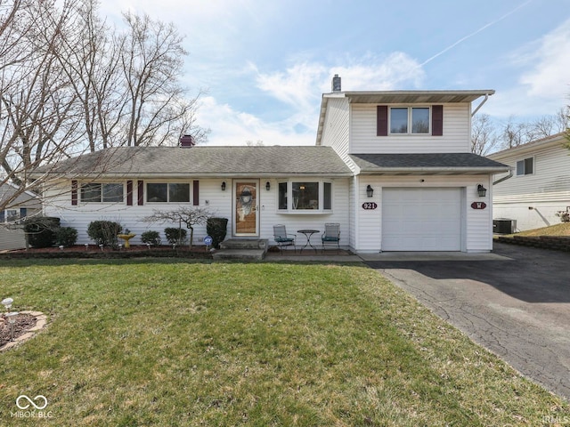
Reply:
<svg viewBox="0 0 570 427"><path fill-rule="evenodd" d="M493 255L367 264L523 375L570 399L570 254L495 243Z"/></svg>

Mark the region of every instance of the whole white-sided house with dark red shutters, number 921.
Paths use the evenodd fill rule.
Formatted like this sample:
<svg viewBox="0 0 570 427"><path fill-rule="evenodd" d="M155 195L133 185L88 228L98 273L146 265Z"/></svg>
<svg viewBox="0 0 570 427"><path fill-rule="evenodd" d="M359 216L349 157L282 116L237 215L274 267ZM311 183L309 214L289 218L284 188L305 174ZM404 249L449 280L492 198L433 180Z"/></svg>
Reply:
<svg viewBox="0 0 570 427"><path fill-rule="evenodd" d="M340 246L358 252L490 251L491 177L508 168L469 153L469 138L472 102L492 94L342 92L335 76L314 146L102 150L38 171L53 176L45 214L75 227L79 243L89 222L108 219L136 244L164 229L142 222L153 210L193 205L228 218L228 237L270 245L275 224L295 233L338 222ZM196 241L205 236L196 228Z"/></svg>

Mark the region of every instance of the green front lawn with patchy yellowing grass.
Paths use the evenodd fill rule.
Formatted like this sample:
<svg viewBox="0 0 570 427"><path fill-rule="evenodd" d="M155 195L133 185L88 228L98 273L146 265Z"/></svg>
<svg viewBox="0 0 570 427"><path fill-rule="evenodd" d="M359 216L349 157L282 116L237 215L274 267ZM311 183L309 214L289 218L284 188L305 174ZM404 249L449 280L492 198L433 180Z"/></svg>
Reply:
<svg viewBox="0 0 570 427"><path fill-rule="evenodd" d="M0 262L50 325L0 353L0 425L542 425L570 409L362 266ZM551 417L551 418L545 418Z"/></svg>

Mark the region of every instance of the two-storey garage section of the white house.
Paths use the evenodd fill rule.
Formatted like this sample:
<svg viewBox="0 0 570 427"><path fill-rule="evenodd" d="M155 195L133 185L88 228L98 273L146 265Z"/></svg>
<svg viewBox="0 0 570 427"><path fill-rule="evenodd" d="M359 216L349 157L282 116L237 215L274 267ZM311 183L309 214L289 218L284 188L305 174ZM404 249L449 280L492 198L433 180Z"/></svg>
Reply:
<svg viewBox="0 0 570 427"><path fill-rule="evenodd" d="M354 172L355 251L492 250L491 177L508 168L469 147L471 104L493 93L323 94L316 143L335 149Z"/></svg>

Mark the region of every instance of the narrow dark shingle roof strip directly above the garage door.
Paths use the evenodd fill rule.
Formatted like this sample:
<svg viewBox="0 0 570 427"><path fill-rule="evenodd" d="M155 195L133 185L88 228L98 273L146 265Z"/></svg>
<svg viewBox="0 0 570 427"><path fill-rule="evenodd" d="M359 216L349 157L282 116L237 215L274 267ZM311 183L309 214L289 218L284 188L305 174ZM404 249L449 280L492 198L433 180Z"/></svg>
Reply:
<svg viewBox="0 0 570 427"><path fill-rule="evenodd" d="M472 153L353 154L361 173L494 173L509 166Z"/></svg>

